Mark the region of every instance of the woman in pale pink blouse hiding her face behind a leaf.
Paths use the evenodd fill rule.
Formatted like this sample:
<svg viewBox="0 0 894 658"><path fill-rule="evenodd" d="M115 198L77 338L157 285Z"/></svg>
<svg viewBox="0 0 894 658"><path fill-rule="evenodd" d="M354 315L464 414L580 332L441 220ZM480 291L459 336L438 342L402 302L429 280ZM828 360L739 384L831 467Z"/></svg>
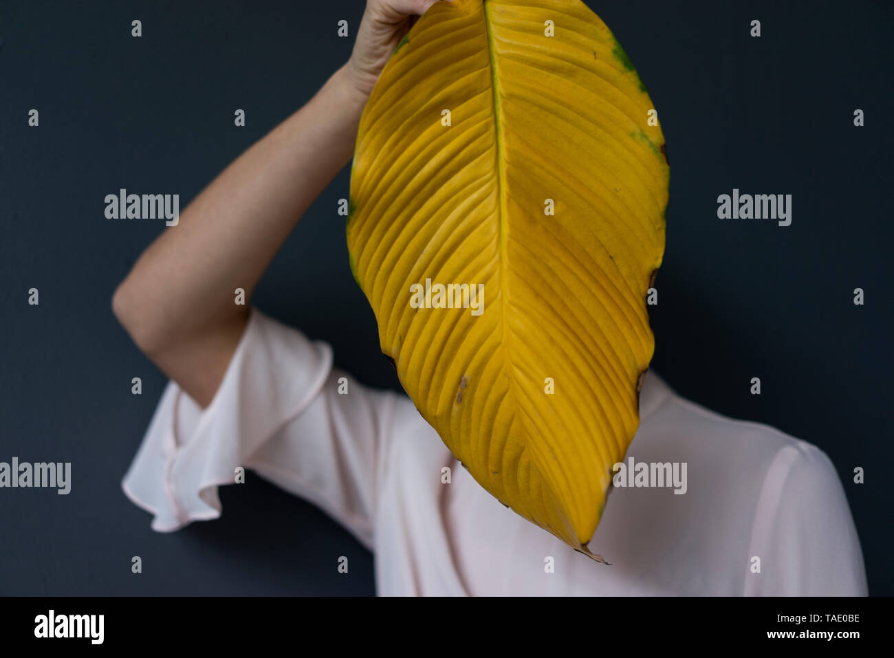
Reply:
<svg viewBox="0 0 894 658"><path fill-rule="evenodd" d="M350 61L224 170L115 291L115 316L172 380L125 493L171 531L219 516L217 487L252 468L367 545L382 595L864 595L847 500L809 443L714 414L650 372L629 472L619 469L589 544L606 566L486 493L409 399L358 385L324 342L233 303L238 288L250 299L349 162L384 63L436 1L369 0ZM649 479L662 472L667 482Z"/></svg>

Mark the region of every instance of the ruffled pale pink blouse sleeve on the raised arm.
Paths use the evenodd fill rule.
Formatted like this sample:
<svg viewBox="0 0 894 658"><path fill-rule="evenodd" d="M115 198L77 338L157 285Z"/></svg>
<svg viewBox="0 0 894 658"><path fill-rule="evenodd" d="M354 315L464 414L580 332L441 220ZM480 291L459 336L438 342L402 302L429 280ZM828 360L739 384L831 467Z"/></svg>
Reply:
<svg viewBox="0 0 894 658"><path fill-rule="evenodd" d="M221 514L219 485L252 469L316 503L371 545L395 394L333 370L332 350L251 308L206 409L170 381L122 480L152 528Z"/></svg>

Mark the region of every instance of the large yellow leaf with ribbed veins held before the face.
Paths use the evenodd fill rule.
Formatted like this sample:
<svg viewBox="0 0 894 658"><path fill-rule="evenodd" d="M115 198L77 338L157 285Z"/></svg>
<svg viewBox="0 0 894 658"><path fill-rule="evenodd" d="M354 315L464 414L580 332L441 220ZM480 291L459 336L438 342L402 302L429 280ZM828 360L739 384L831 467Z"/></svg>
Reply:
<svg viewBox="0 0 894 658"><path fill-rule="evenodd" d="M577 0L439 3L385 66L351 172L351 269L409 397L488 492L595 559L654 352L653 109Z"/></svg>

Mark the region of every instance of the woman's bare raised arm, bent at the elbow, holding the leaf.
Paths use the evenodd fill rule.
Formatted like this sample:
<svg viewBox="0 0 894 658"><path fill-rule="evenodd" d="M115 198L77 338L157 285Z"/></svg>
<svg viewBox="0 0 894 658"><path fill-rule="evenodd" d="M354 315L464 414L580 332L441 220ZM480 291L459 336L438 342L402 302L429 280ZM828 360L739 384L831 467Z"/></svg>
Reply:
<svg viewBox="0 0 894 658"><path fill-rule="evenodd" d="M146 249L114 292L140 350L200 405L220 385L257 281L310 204L350 161L375 80L437 0L369 0L350 61L243 153ZM244 306L234 291L245 290Z"/></svg>

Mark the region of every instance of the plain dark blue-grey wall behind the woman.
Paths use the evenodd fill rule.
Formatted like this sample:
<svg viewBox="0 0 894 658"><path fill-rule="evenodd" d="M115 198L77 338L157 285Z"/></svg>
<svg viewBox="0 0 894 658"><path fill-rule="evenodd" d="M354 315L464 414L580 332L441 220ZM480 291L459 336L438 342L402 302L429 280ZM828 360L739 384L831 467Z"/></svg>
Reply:
<svg viewBox="0 0 894 658"><path fill-rule="evenodd" d="M721 413L777 426L839 469L873 594L894 594L888 275L889 3L591 2L645 81L668 141L654 368ZM175 534L120 489L164 387L110 310L163 228L113 222L119 188L181 195L346 61L363 4L0 4L0 460L71 461L68 496L0 491L0 593L371 594L372 557L305 502L249 477L223 518ZM143 37L131 38L131 20ZM350 22L350 39L336 22ZM750 38L759 19L761 38ZM40 125L27 125L38 108ZM247 125L233 126L244 108ZM853 125L853 112L866 125ZM346 169L261 282L267 313L399 389L348 268ZM793 222L721 221L733 187L794 196ZM37 287L40 305L27 304ZM864 307L852 303L862 287ZM752 396L752 376L763 395ZM143 395L131 395L131 377ZM866 469L864 485L852 470ZM263 513L258 510L266 510ZM131 555L144 562L130 570ZM350 575L335 560L350 556Z"/></svg>

